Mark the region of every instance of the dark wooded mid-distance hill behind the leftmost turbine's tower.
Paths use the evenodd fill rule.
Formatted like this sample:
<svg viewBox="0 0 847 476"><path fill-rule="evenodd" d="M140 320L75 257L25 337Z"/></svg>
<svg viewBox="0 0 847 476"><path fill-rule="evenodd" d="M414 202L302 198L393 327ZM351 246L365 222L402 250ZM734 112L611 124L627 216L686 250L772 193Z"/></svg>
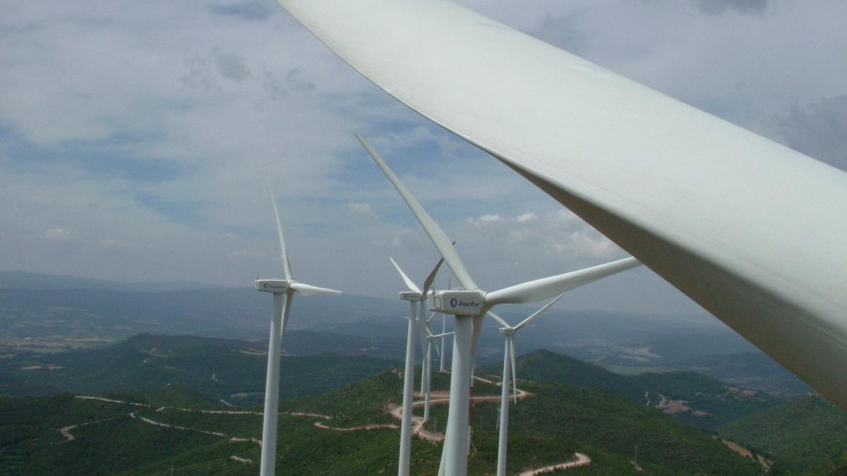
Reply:
<svg viewBox="0 0 847 476"><path fill-rule="evenodd" d="M267 359L267 349L259 342L142 334L102 349L7 359L0 363L0 371L9 375L0 378L0 390L8 387L6 395L27 390L44 394L43 387L49 385L102 394L177 385L233 405L251 405L263 399ZM328 353L283 357L280 397L322 393L393 364Z"/></svg>

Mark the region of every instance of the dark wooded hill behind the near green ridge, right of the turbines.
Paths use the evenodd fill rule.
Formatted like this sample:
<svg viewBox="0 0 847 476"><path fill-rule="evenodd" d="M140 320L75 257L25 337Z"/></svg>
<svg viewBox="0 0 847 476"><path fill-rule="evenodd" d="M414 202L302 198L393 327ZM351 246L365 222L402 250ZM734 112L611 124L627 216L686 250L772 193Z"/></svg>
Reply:
<svg viewBox="0 0 847 476"><path fill-rule="evenodd" d="M641 405L659 407L706 429L715 429L779 402L764 392L733 387L702 374L668 372L625 376L545 350L518 357L517 365L521 379L610 390ZM483 371L499 375L501 369L501 366L489 366Z"/></svg>

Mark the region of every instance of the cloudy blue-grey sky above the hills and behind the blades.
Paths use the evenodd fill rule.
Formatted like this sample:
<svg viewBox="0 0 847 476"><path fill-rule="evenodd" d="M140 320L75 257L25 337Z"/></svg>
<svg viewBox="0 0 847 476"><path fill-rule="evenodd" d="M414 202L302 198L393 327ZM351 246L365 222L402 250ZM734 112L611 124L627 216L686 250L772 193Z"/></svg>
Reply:
<svg viewBox="0 0 847 476"><path fill-rule="evenodd" d="M460 3L847 169L847 3ZM354 131L486 290L626 256L364 80L273 0L0 6L0 270L280 277L269 184L297 280L396 296L388 257L423 281L437 255ZM705 314L645 268L557 307Z"/></svg>

